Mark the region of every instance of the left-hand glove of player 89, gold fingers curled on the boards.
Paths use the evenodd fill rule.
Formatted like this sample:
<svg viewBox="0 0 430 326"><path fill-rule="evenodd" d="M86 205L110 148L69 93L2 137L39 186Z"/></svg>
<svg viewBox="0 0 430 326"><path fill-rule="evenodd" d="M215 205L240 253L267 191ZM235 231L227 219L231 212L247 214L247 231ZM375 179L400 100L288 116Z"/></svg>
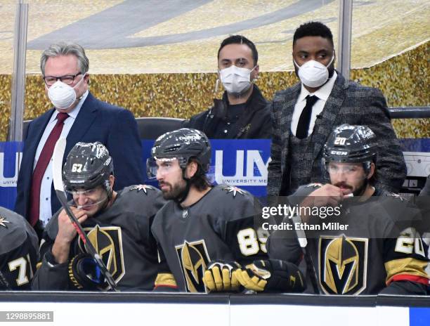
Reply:
<svg viewBox="0 0 430 326"><path fill-rule="evenodd" d="M240 268L235 261L212 261L204 271L203 282L209 292L237 291L240 283L234 271Z"/></svg>

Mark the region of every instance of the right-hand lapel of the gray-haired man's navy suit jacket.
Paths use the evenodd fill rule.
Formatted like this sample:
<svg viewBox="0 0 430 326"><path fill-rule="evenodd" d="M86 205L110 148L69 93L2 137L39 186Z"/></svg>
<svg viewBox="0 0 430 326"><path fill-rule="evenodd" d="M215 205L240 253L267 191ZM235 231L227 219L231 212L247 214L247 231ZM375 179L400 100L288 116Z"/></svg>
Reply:
<svg viewBox="0 0 430 326"><path fill-rule="evenodd" d="M72 128L67 135L67 145L65 153L70 152L72 147L82 140L85 133L88 131L91 124L93 124L94 119L96 119L96 112L98 110L98 103L96 98L88 93L84 104L73 123ZM65 162L67 155L63 157L63 162Z"/></svg>

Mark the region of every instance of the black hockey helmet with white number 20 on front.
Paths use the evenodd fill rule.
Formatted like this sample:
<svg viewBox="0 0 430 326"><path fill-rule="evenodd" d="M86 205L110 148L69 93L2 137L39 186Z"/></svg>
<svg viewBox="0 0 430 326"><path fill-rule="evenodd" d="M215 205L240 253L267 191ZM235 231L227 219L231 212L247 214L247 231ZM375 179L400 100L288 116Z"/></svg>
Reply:
<svg viewBox="0 0 430 326"><path fill-rule="evenodd" d="M330 162L363 163L370 169L376 162L377 137L368 126L342 124L330 134L323 151L323 167Z"/></svg>

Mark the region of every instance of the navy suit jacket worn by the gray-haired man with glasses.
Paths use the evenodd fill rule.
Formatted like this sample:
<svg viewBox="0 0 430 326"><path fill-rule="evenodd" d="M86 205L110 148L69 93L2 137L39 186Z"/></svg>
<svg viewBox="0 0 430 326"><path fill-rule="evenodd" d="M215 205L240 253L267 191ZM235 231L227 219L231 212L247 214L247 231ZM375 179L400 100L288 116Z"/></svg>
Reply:
<svg viewBox="0 0 430 326"><path fill-rule="evenodd" d="M48 110L30 122L25 137L18 174L15 211L25 216L26 219L29 218L27 214L30 211L34 156L54 110ZM127 185L143 183L141 139L138 135L136 120L129 110L97 100L89 93L67 135L63 164L67 154L79 141L84 143L100 141L107 147L114 162L115 190L120 190ZM58 211L60 206L52 186L52 213Z"/></svg>

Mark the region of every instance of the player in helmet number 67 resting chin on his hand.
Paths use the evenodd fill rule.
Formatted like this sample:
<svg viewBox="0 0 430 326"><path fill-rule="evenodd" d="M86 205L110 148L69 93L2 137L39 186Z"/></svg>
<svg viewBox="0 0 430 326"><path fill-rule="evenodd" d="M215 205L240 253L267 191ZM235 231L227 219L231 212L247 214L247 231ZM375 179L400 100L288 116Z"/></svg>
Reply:
<svg viewBox="0 0 430 326"><path fill-rule="evenodd" d="M63 182L72 196L74 215L118 289L152 289L158 259L150 226L164 204L161 192L149 185L112 190L112 158L98 142L74 145L63 168ZM33 289L109 288L63 209L46 226L41 255Z"/></svg>

